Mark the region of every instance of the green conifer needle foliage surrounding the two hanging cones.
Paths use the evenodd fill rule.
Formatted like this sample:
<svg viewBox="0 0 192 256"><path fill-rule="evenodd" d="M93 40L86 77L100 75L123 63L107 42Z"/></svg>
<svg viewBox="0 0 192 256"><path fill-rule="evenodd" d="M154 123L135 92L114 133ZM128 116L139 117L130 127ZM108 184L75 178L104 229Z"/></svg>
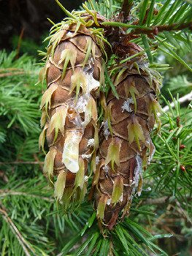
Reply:
<svg viewBox="0 0 192 256"><path fill-rule="evenodd" d="M89 11L91 16L96 10L107 19L113 12L131 10L135 20L126 23L108 20L101 25L124 28L130 42L144 49L134 56L127 56L120 64L146 52L149 67L166 78L163 84L167 89L162 90L164 94L159 96L159 102L169 109L164 111L163 108L158 116L161 134L154 131L152 136L156 150L143 172L142 194L138 197L135 193L124 222L104 233L99 228L94 204L87 200L88 195L79 209L74 207L75 210L68 214L56 207L53 191L42 174L45 156L38 149L39 105L44 89L41 84L34 84L40 68L26 55L15 60L16 52L9 55L5 50L0 52L1 255L140 256L179 252L180 255L190 255L192 102L180 103L180 97L191 91L188 88L191 86L191 67L185 57L191 52L191 4L190 0L89 0L80 10L80 13ZM153 7L158 9L158 14ZM161 63L162 56L164 64ZM115 58L112 55L105 64L106 87L101 91L106 94L110 89L116 94L110 79L111 73L118 70ZM175 74L174 78L169 78L166 58L170 65L173 59L180 62L185 72L190 71L188 77ZM102 110L100 114L102 120ZM91 187L89 179L88 190Z"/></svg>

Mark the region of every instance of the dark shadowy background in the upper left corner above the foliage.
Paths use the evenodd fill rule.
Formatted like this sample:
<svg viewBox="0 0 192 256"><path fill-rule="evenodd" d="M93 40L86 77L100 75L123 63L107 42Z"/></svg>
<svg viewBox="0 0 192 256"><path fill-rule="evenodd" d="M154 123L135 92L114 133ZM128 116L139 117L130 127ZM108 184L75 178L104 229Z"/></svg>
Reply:
<svg viewBox="0 0 192 256"><path fill-rule="evenodd" d="M81 0L61 0L69 11L78 9L81 3ZM0 0L0 50L17 49L21 38L20 56L27 52L38 58L37 50L45 49L47 42L42 44L42 41L52 26L47 18L58 23L64 17L55 0Z"/></svg>

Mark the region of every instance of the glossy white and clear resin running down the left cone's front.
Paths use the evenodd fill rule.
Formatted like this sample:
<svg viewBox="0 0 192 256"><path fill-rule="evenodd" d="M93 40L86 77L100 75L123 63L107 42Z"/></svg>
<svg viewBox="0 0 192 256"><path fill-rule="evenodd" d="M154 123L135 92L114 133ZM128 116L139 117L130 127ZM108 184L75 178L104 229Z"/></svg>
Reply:
<svg viewBox="0 0 192 256"><path fill-rule="evenodd" d="M66 34L67 37L73 37L74 34L72 32L68 32ZM91 99L91 91L94 89L98 89L100 83L98 80L93 78L93 72L90 72L90 69L93 69L93 59L91 59L91 67L87 69L89 72L83 72L85 77L83 78L83 82L80 83L83 94L78 95L77 102L75 102L75 97L70 99L68 103L68 108L74 108L75 115L70 115L67 113L69 117L69 121L71 121L77 129L74 132L69 132L67 138L64 143L64 150L62 154L62 162L66 165L66 168L70 170L72 173L77 173L79 170L79 143L82 139L82 135L84 134L86 125L91 121L92 118L92 109L88 105ZM84 69L85 70L85 69ZM72 76L72 83L75 81L75 77ZM82 121L82 113L85 113L85 118ZM110 132L109 132L110 134ZM94 139L88 140L88 146L94 146ZM90 158L91 154L82 154L82 159ZM99 163L99 157L96 157L96 165Z"/></svg>

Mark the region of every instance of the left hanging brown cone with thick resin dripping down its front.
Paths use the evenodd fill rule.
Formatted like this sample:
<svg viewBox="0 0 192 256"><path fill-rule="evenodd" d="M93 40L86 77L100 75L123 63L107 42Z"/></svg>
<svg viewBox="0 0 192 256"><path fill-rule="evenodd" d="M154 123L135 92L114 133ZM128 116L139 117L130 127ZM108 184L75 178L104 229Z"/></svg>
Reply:
<svg viewBox="0 0 192 256"><path fill-rule="evenodd" d="M44 128L39 147L44 150L46 133L44 173L65 210L71 202L83 200L88 162L99 146L96 97L104 80L101 55L93 31L69 21L53 34L40 74L40 80L46 75L47 90L40 107Z"/></svg>

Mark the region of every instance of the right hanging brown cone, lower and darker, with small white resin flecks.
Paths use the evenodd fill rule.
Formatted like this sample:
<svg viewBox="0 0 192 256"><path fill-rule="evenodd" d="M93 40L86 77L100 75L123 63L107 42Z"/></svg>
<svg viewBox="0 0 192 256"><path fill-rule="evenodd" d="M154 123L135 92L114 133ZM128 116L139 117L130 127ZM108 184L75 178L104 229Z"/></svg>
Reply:
<svg viewBox="0 0 192 256"><path fill-rule="evenodd" d="M139 53L142 48L134 43L118 45L115 55L118 61L123 56ZM123 212L121 219L131 207L132 191L142 191L142 166L153 158L155 147L150 134L154 122L161 128L156 110L161 111L155 99L159 83L154 76L158 72L147 67L146 55L119 65L112 77L119 99L110 89L105 107L104 125L99 145L99 165L93 177L96 187L97 218L104 227L112 229ZM147 157L148 150L148 157Z"/></svg>

